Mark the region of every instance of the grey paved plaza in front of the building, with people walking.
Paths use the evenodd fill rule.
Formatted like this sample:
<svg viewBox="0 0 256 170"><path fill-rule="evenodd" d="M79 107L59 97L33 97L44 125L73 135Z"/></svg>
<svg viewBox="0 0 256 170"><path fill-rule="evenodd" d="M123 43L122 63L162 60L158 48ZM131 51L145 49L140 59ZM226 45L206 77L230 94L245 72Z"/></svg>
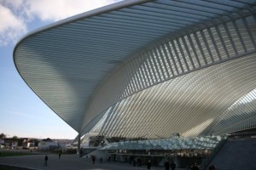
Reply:
<svg viewBox="0 0 256 170"><path fill-rule="evenodd" d="M90 159L81 158L77 155L62 155L59 159L58 155L48 155L48 166L44 167L44 156L45 155L30 155L30 156L9 156L0 157L0 165L12 165L17 167L26 167L28 169L49 169L49 170L139 170L147 169L146 166L143 167L133 167L128 163L121 162L108 162L103 161L101 164L96 161L92 164ZM164 167L151 167L150 170L160 170L165 169Z"/></svg>

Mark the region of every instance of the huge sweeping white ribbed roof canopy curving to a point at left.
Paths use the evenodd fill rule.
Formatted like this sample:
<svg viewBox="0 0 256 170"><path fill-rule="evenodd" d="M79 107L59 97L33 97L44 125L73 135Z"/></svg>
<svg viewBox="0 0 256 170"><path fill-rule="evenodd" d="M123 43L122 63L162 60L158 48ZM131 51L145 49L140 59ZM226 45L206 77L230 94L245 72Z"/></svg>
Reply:
<svg viewBox="0 0 256 170"><path fill-rule="evenodd" d="M20 76L81 136L221 135L256 125L256 1L124 1L33 31Z"/></svg>

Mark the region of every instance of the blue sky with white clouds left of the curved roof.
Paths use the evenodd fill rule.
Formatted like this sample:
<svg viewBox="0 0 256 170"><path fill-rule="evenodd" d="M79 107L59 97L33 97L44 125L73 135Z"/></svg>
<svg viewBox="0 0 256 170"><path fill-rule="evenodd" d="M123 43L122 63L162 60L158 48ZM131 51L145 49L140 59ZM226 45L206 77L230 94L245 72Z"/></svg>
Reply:
<svg viewBox="0 0 256 170"><path fill-rule="evenodd" d="M77 132L27 87L15 68L16 42L29 31L117 0L0 0L0 133L74 139Z"/></svg>

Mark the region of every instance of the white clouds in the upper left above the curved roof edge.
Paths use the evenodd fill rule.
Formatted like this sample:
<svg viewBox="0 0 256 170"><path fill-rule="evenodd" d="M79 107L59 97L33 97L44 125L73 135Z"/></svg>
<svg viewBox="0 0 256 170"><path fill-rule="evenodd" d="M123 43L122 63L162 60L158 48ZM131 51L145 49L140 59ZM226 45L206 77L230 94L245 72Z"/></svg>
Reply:
<svg viewBox="0 0 256 170"><path fill-rule="evenodd" d="M120 0L0 0L0 46L15 43L32 20L53 22Z"/></svg>

